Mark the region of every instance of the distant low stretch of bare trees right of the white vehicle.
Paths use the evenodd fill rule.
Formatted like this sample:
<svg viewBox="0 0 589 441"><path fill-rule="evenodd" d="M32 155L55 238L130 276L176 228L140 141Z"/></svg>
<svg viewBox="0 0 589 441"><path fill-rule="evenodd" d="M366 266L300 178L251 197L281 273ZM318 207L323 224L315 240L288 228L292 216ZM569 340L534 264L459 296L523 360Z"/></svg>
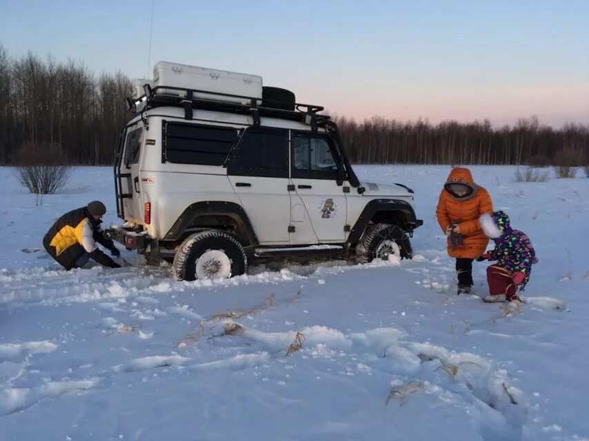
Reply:
<svg viewBox="0 0 589 441"><path fill-rule="evenodd" d="M492 127L490 121L403 123L379 116L337 118L352 163L589 165L589 126L559 129L538 119Z"/></svg>

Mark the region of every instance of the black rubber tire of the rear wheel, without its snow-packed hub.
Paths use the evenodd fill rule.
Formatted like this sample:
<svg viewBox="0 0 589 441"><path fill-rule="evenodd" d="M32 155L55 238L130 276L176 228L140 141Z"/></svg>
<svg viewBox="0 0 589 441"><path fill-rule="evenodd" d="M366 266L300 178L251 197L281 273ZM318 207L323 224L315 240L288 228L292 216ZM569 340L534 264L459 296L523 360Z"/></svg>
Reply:
<svg viewBox="0 0 589 441"><path fill-rule="evenodd" d="M229 277L248 270L248 258L241 244L230 234L209 230L188 236L180 245L172 263L175 280L197 280L197 261L206 252L222 251L229 258Z"/></svg>

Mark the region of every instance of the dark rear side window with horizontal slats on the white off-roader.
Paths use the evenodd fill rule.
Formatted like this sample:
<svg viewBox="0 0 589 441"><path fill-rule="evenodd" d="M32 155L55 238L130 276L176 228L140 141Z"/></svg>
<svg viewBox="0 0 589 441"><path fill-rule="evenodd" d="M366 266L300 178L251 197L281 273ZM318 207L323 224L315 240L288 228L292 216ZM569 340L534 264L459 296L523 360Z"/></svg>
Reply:
<svg viewBox="0 0 589 441"><path fill-rule="evenodd" d="M166 123L163 160L171 163L223 165L239 130L182 123Z"/></svg>

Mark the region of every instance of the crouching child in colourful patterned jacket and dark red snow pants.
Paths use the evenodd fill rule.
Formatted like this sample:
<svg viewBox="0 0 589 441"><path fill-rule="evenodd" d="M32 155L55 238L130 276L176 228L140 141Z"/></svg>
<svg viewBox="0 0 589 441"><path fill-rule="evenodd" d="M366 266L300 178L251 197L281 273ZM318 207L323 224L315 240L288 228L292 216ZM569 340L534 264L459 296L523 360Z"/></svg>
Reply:
<svg viewBox="0 0 589 441"><path fill-rule="evenodd" d="M490 296L485 302L519 300L517 289L523 291L530 280L532 264L537 263L536 252L525 233L512 229L509 217L504 212L481 216L481 227L495 242L495 249L486 252L477 260L497 260L487 268Z"/></svg>

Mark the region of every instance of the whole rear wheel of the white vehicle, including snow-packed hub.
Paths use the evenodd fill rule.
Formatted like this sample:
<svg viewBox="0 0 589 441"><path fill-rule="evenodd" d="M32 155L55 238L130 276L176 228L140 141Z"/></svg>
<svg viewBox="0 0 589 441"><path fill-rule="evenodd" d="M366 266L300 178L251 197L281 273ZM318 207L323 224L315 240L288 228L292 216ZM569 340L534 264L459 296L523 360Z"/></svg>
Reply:
<svg viewBox="0 0 589 441"><path fill-rule="evenodd" d="M248 258L241 244L230 234L217 230L188 236L174 256L175 280L229 278L248 270Z"/></svg>

